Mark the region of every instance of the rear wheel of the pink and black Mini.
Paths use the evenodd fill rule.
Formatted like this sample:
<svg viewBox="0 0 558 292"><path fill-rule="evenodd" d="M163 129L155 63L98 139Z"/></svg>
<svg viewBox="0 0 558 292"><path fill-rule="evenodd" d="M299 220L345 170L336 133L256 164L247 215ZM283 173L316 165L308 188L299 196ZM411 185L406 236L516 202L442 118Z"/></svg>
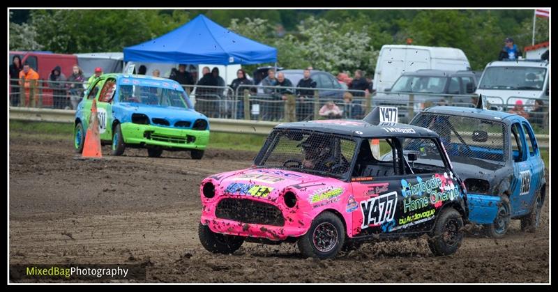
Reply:
<svg viewBox="0 0 558 292"><path fill-rule="evenodd" d="M428 247L435 256L446 256L457 252L463 240L463 219L454 208L445 208L434 226Z"/></svg>

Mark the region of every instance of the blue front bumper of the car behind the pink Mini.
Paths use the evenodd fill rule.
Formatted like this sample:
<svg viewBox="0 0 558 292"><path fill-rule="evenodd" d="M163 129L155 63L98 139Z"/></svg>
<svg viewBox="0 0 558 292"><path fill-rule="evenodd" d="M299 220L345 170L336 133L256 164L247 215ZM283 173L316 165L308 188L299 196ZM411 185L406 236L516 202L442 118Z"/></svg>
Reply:
<svg viewBox="0 0 558 292"><path fill-rule="evenodd" d="M492 224L496 220L500 197L486 194L467 194L469 221L474 224Z"/></svg>

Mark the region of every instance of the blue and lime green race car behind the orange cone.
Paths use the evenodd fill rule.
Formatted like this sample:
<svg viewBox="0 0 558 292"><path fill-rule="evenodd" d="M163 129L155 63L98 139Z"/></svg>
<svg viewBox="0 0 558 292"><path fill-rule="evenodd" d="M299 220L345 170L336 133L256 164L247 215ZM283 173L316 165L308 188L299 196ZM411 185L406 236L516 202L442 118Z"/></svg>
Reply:
<svg viewBox="0 0 558 292"><path fill-rule="evenodd" d="M209 120L194 110L177 82L144 75L105 74L93 82L75 112L74 146L83 150L93 99L97 102L102 144L112 155L126 147L147 148L149 157L163 150L190 151L201 159L209 141Z"/></svg>

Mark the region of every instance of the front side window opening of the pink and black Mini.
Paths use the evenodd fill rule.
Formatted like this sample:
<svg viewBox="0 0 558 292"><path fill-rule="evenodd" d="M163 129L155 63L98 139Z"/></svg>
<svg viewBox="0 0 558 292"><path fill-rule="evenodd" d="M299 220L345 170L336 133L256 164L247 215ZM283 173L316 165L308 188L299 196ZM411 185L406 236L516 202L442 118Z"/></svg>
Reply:
<svg viewBox="0 0 558 292"><path fill-rule="evenodd" d="M363 139L353 177L395 176L400 174L397 148L391 139ZM395 157L395 162L393 161Z"/></svg>

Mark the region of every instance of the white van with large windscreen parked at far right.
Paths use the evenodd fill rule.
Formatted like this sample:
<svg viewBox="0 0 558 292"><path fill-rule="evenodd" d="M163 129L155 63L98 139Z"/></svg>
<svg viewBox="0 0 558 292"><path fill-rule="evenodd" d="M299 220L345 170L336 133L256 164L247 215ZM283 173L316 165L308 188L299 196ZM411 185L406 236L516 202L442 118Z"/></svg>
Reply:
<svg viewBox="0 0 558 292"><path fill-rule="evenodd" d="M536 99L548 100L548 73L548 61L493 61L486 65L475 94L486 95L492 105L513 106L521 100L529 110Z"/></svg>

